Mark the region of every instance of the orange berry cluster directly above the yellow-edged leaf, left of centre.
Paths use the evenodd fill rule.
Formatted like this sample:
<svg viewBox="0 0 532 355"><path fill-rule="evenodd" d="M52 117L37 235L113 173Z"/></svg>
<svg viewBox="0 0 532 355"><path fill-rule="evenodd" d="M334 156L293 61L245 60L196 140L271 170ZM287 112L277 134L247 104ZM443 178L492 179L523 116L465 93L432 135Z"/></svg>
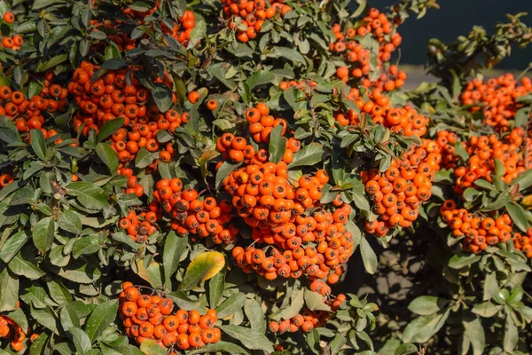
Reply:
<svg viewBox="0 0 532 355"><path fill-rule="evenodd" d="M230 202L222 201L218 205L214 197L201 199L195 189L184 189L178 177L163 178L155 187L154 201L172 217L170 227L178 234L210 237L215 244L235 241L239 229L229 225L232 218Z"/></svg>

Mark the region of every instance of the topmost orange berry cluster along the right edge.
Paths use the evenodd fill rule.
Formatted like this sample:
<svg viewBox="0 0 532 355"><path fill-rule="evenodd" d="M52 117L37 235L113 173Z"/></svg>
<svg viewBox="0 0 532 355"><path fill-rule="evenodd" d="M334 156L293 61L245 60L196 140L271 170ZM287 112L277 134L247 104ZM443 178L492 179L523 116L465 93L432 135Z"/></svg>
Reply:
<svg viewBox="0 0 532 355"><path fill-rule="evenodd" d="M482 111L483 124L488 124L497 131L507 131L517 110L523 104L516 101L520 96L532 92L532 80L523 77L518 83L512 74L506 73L491 78L486 83L475 78L465 85L460 95L463 105L472 106L471 112Z"/></svg>

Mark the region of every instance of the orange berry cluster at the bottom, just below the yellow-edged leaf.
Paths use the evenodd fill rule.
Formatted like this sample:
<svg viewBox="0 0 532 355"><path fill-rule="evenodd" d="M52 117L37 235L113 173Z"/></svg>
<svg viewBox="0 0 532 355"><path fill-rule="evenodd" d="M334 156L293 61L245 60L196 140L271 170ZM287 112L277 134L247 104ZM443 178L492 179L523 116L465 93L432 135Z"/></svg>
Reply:
<svg viewBox="0 0 532 355"><path fill-rule="evenodd" d="M169 298L153 293L143 295L131 282L124 282L122 290L120 318L126 334L137 343L153 339L168 349L169 355L176 355L176 351L203 348L220 341L222 332L215 327L218 320L215 310L208 310L204 315L198 311L175 310Z"/></svg>

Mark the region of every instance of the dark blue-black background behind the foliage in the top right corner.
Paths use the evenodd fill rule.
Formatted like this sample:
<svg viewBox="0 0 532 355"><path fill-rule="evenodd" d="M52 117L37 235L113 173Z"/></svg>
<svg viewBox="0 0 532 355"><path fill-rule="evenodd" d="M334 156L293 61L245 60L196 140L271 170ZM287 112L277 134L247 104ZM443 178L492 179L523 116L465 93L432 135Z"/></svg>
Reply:
<svg viewBox="0 0 532 355"><path fill-rule="evenodd" d="M379 10L398 3L399 0L369 0L368 5ZM521 18L532 26L532 0L439 0L440 10L429 9L426 15L416 20L408 18L399 28L403 36L401 63L424 65L426 43L430 38L439 38L443 43L454 42L460 35L466 35L474 25L486 28L491 34L497 22L506 21L506 14L528 12ZM353 2L353 7L356 8ZM415 15L415 14L414 14ZM498 69L522 70L532 61L532 46L525 50L515 47L512 55L497 65Z"/></svg>

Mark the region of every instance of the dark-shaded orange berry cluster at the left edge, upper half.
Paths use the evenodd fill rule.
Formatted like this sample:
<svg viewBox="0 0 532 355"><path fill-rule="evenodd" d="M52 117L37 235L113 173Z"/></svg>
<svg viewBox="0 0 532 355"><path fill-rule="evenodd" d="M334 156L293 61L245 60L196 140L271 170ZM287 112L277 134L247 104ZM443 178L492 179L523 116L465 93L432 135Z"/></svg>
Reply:
<svg viewBox="0 0 532 355"><path fill-rule="evenodd" d="M52 77L51 74L46 75ZM54 113L64 110L68 105L68 91L58 84L51 84L45 79L41 95L27 99L23 92L12 91L9 86L0 87L0 115L8 117L15 123L20 133L43 128L43 111Z"/></svg>

